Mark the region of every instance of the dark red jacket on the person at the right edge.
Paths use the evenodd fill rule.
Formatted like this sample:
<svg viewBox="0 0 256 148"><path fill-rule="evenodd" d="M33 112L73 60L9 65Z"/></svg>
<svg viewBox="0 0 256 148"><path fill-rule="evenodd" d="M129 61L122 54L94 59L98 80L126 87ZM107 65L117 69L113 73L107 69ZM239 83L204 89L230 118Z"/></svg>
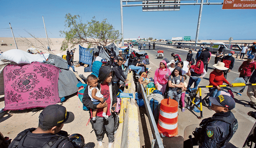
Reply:
<svg viewBox="0 0 256 148"><path fill-rule="evenodd" d="M254 69L256 69L256 61L253 60L251 63L244 61L238 71L240 71L240 76L250 76Z"/></svg>

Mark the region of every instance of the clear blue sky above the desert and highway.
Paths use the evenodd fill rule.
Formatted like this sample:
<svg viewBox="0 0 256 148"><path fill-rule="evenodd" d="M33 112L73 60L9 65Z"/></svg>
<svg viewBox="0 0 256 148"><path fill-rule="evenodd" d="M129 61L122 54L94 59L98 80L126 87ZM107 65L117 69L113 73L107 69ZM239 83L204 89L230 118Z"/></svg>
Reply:
<svg viewBox="0 0 256 148"><path fill-rule="evenodd" d="M182 1L185 2L196 1ZM124 38L195 39L199 9L200 5L184 5L180 11L142 12L142 6L123 7ZM44 16L48 37L64 38L60 31L68 30L64 26L67 13L80 15L83 23L93 16L100 22L106 18L121 33L120 0L1 0L0 37L12 37L9 23L15 37L30 37L27 32L46 37ZM222 5L203 5L198 39L256 40L255 16L256 9L222 10Z"/></svg>

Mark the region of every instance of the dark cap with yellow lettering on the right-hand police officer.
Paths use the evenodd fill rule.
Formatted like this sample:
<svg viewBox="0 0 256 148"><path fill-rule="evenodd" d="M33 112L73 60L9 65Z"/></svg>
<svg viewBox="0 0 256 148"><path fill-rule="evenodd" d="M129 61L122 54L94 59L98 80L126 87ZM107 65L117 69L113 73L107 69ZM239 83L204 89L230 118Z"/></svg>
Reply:
<svg viewBox="0 0 256 148"><path fill-rule="evenodd" d="M228 110L232 110L236 106L236 102L234 101L234 99L228 95L219 95L217 97L209 97L209 99L212 104L226 107L228 108Z"/></svg>

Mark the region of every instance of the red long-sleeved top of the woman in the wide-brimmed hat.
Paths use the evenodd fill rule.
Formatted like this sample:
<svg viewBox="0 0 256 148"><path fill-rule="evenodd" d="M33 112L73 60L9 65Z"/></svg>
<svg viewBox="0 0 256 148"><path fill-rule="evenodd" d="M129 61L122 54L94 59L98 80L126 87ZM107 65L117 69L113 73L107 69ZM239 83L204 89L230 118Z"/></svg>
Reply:
<svg viewBox="0 0 256 148"><path fill-rule="evenodd" d="M210 73L209 81L210 81L210 84L209 84L209 85L212 85L212 86L214 86L214 87L216 87L216 86L218 86L218 85L223 85L223 81L224 81L225 83L227 83L227 84L229 83L229 82L225 79L225 77L224 77L224 75L223 75L223 72L221 71L220 73L217 73L216 70L214 70L214 71L212 71L212 72Z"/></svg>

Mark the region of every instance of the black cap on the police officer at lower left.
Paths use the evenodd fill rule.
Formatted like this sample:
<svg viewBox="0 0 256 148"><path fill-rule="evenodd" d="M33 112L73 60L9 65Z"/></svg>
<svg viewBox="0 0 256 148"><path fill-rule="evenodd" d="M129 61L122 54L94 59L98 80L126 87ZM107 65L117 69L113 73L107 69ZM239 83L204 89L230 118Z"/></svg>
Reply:
<svg viewBox="0 0 256 148"><path fill-rule="evenodd" d="M67 112L66 107L61 105L49 105L40 113L43 117L41 122L44 126L59 126L60 124L70 123L74 120L73 112Z"/></svg>

